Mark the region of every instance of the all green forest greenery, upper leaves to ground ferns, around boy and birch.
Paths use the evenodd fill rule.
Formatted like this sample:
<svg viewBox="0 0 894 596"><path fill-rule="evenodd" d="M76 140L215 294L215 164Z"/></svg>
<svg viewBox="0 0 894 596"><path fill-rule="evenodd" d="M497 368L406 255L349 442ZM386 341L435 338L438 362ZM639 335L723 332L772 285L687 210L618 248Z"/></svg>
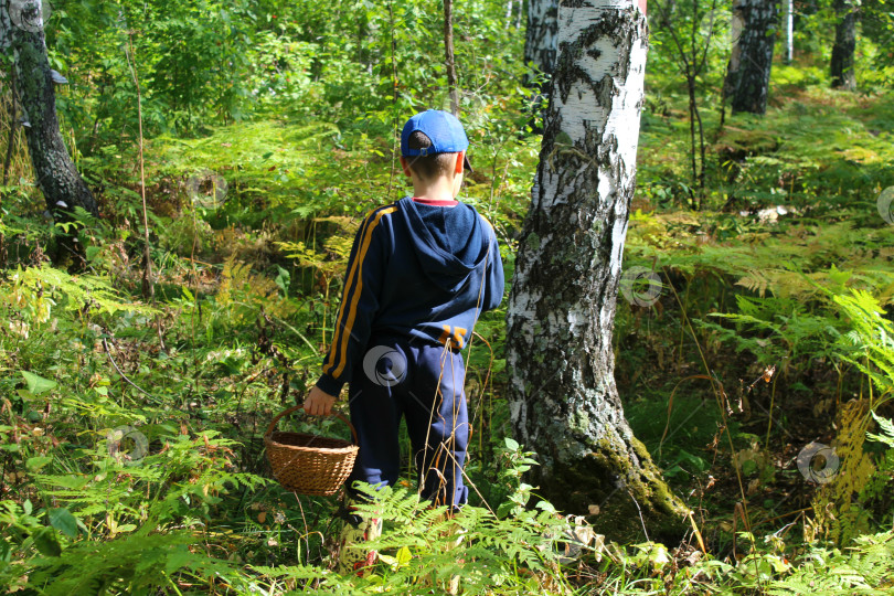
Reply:
<svg viewBox="0 0 894 596"><path fill-rule="evenodd" d="M751 114L725 83L733 6L649 6L616 380L692 511L683 542L646 524L621 540L600 503L557 512L525 483L536 455L512 438L503 307L467 354L472 507L421 511L406 446L384 556L360 578L330 571L338 503L273 481L263 435L317 379L362 216L409 192L398 127L450 106L444 7L44 3L60 131L98 215L51 213L28 81L4 52L0 585L424 594L459 575L468 594L888 592L894 14L882 0L792 8L794 52L781 7L766 111ZM461 198L493 223L507 279L547 78L524 61L528 10L453 7L475 168ZM830 71L845 19L853 85Z"/></svg>

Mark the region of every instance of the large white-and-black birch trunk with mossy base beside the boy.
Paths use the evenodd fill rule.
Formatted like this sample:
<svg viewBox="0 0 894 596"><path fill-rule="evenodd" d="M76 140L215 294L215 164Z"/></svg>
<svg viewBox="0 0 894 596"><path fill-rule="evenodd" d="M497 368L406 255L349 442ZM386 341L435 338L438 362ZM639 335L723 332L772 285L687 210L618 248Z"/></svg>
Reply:
<svg viewBox="0 0 894 596"><path fill-rule="evenodd" d="M611 351L647 35L635 0L558 9L558 58L507 315L508 393L514 433L540 457L539 493L577 513L597 505L595 522L613 536L641 536L645 524L650 538L672 540L685 509L625 419Z"/></svg>

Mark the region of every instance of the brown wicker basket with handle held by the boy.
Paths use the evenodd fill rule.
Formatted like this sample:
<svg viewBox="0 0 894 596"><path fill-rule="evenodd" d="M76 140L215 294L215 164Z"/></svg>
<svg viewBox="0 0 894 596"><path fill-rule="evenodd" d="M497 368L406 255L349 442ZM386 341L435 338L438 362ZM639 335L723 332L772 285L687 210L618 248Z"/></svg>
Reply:
<svg viewBox="0 0 894 596"><path fill-rule="evenodd" d="M354 468L359 449L356 430L348 418L337 412L332 415L351 429L353 444L319 435L274 430L279 418L301 407L297 405L280 412L264 433L267 460L274 478L283 488L301 494L334 494Z"/></svg>

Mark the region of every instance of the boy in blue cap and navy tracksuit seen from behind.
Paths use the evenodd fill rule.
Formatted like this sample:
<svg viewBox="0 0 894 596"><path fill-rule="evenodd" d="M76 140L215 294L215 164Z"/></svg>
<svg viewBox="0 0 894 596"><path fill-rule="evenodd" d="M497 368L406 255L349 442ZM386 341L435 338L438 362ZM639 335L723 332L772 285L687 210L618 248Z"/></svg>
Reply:
<svg viewBox="0 0 894 596"><path fill-rule="evenodd" d="M401 134L401 166L414 195L379 207L354 238L341 308L322 375L305 411L327 415L349 382L360 450L348 486L393 486L400 472L398 426L406 416L419 490L459 508L468 488L469 438L460 351L478 316L503 296L493 228L456 200L469 141L453 115L427 110ZM358 494L349 488L349 498ZM350 549L381 533L381 520L352 515L342 532L339 571L359 570L375 553Z"/></svg>

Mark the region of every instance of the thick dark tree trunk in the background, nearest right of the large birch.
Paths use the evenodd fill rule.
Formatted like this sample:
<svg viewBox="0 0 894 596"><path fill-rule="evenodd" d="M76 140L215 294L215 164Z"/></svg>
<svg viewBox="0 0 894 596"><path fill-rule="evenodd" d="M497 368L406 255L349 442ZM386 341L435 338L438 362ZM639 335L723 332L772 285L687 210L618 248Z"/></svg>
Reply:
<svg viewBox="0 0 894 596"><path fill-rule="evenodd" d="M725 82L725 96L732 98L733 114L767 110L778 18L776 0L733 1L733 52Z"/></svg>

